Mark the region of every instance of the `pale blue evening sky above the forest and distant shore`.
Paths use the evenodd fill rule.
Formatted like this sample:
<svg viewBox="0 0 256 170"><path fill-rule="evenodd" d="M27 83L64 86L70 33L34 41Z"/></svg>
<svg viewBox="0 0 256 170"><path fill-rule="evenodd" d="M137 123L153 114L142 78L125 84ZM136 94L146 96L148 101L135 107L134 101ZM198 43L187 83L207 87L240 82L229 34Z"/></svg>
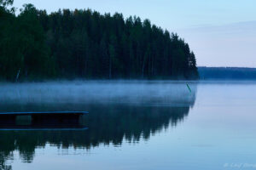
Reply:
<svg viewBox="0 0 256 170"><path fill-rule="evenodd" d="M137 15L177 32L195 52L199 66L256 67L255 0L15 0L49 13L91 8L102 14Z"/></svg>

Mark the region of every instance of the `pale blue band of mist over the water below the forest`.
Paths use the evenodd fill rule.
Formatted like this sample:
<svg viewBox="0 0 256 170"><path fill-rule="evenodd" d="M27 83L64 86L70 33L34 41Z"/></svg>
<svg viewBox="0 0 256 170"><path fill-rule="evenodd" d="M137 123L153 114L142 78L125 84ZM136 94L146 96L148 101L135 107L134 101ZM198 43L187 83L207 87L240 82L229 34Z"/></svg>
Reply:
<svg viewBox="0 0 256 170"><path fill-rule="evenodd" d="M154 81L3 83L0 89L0 110L6 109L3 105L53 103L188 106L191 105L191 99L195 98L195 83L190 88L192 93L186 82ZM63 109L60 107L57 110ZM73 108L73 111L76 110Z"/></svg>

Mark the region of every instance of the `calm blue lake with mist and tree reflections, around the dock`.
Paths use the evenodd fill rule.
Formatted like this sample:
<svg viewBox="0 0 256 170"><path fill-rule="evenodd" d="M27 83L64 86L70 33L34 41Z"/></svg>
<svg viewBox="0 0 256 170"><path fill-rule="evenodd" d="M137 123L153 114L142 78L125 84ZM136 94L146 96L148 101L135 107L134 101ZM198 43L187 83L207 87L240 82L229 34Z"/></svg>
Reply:
<svg viewBox="0 0 256 170"><path fill-rule="evenodd" d="M0 128L0 169L256 169L255 85L1 83L2 112L89 114L86 129Z"/></svg>

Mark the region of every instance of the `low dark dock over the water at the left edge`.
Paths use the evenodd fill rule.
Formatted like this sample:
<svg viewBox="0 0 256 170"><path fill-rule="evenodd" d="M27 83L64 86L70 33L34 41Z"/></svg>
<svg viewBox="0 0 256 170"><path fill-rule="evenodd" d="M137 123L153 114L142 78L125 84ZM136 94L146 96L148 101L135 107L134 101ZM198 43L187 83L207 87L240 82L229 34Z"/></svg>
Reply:
<svg viewBox="0 0 256 170"><path fill-rule="evenodd" d="M0 130L84 130L87 111L38 111L0 113Z"/></svg>

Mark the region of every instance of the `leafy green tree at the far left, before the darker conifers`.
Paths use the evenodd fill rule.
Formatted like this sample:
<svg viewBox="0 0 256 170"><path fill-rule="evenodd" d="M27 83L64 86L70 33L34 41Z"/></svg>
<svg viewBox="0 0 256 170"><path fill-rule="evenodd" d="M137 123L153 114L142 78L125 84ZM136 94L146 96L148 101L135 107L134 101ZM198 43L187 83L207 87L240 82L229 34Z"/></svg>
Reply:
<svg viewBox="0 0 256 170"><path fill-rule="evenodd" d="M54 75L53 59L49 58L44 30L32 4L24 5L20 15L7 20L3 27L0 42L3 79L14 81L18 71L21 77L32 80Z"/></svg>

